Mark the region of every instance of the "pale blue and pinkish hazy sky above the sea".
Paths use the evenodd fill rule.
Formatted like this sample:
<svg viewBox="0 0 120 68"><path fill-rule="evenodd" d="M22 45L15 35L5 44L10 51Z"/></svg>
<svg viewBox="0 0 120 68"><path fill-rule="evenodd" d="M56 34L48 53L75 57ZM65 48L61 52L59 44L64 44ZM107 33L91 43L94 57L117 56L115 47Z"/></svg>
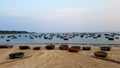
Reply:
<svg viewBox="0 0 120 68"><path fill-rule="evenodd" d="M120 32L120 0L1 0L0 30Z"/></svg>

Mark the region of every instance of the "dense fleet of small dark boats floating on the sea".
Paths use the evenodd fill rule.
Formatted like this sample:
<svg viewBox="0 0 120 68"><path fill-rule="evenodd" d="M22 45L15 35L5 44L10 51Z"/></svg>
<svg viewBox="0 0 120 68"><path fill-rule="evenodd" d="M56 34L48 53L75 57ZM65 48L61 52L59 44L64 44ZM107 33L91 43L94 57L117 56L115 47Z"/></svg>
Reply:
<svg viewBox="0 0 120 68"><path fill-rule="evenodd" d="M69 40L75 37L79 38L93 38L93 39L99 39L99 38L105 38L108 40L115 40L119 39L120 34L119 33L38 33L38 34L1 34L0 38L7 37L6 41L10 41L11 39L18 39L21 37L29 38L29 39L35 39L35 38L43 38L45 40L52 40L53 38L59 38L63 40Z"/></svg>

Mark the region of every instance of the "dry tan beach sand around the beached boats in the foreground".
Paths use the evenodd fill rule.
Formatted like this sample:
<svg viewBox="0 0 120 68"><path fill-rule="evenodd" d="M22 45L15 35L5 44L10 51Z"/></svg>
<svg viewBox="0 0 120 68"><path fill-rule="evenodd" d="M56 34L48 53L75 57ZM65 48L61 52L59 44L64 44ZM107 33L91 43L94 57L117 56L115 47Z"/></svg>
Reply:
<svg viewBox="0 0 120 68"><path fill-rule="evenodd" d="M19 50L18 46L14 46L12 49L0 49L0 68L120 68L118 63L91 57L93 52L98 50L99 47L94 46L90 51L80 50L72 53L59 50L58 46L54 50L46 50L42 46L41 50L36 51ZM24 52L25 56L32 57L3 63L11 61L8 55L14 52ZM107 53L108 58L120 61L120 47L112 47L112 50Z"/></svg>

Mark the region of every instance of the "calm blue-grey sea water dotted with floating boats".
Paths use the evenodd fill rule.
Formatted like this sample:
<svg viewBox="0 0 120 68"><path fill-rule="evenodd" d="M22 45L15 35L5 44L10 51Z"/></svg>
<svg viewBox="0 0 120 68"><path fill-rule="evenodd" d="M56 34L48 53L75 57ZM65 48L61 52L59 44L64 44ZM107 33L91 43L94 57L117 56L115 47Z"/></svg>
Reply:
<svg viewBox="0 0 120 68"><path fill-rule="evenodd" d="M53 35L54 33L52 33ZM87 37L85 35L84 37L80 37L81 33L78 33L78 35L68 38L68 40L61 39L60 37L57 37L57 34L60 36L68 37L72 36L73 33L55 33L52 36L52 39L45 39L44 36L49 37L51 33L36 33L36 34L0 34L0 44L46 44L46 43L70 43L70 44L120 44L120 33L94 33L94 34L100 34L101 37L99 38L93 38L93 37ZM75 34L75 33L74 33ZM87 33L89 34L89 33ZM108 40L105 38L104 34L114 34L114 40ZM41 36L40 36L41 35ZM8 37L11 36L11 37ZM36 36L36 37L35 37ZM117 37L117 39L115 39Z"/></svg>

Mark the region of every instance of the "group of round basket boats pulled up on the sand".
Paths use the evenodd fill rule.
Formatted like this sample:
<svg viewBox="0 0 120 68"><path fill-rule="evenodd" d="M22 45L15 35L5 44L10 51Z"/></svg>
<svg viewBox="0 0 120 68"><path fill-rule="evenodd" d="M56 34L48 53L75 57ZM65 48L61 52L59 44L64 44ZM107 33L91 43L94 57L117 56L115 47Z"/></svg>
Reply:
<svg viewBox="0 0 120 68"><path fill-rule="evenodd" d="M3 48L13 48L13 46L12 45L0 45L0 49L3 49ZM53 49L55 49L55 45L49 44L49 45L45 46L45 48L47 50L53 50ZM68 50L69 52L79 52L80 50L89 51L89 50L91 50L91 48L92 48L91 46L71 46L71 47L69 47L69 45L60 45L59 46L60 50ZM20 50L29 50L29 49L31 49L31 47L22 45L22 46L19 46L19 49ZM33 50L40 50L40 49L41 49L40 46L34 46L33 47ZM94 55L96 57L105 58L105 57L107 57L107 54L108 54L105 51L110 51L111 47L101 46L100 50L101 51L95 51ZM24 52L17 52L17 53L9 54L10 59L16 59L16 58L22 58L22 57L24 57Z"/></svg>

